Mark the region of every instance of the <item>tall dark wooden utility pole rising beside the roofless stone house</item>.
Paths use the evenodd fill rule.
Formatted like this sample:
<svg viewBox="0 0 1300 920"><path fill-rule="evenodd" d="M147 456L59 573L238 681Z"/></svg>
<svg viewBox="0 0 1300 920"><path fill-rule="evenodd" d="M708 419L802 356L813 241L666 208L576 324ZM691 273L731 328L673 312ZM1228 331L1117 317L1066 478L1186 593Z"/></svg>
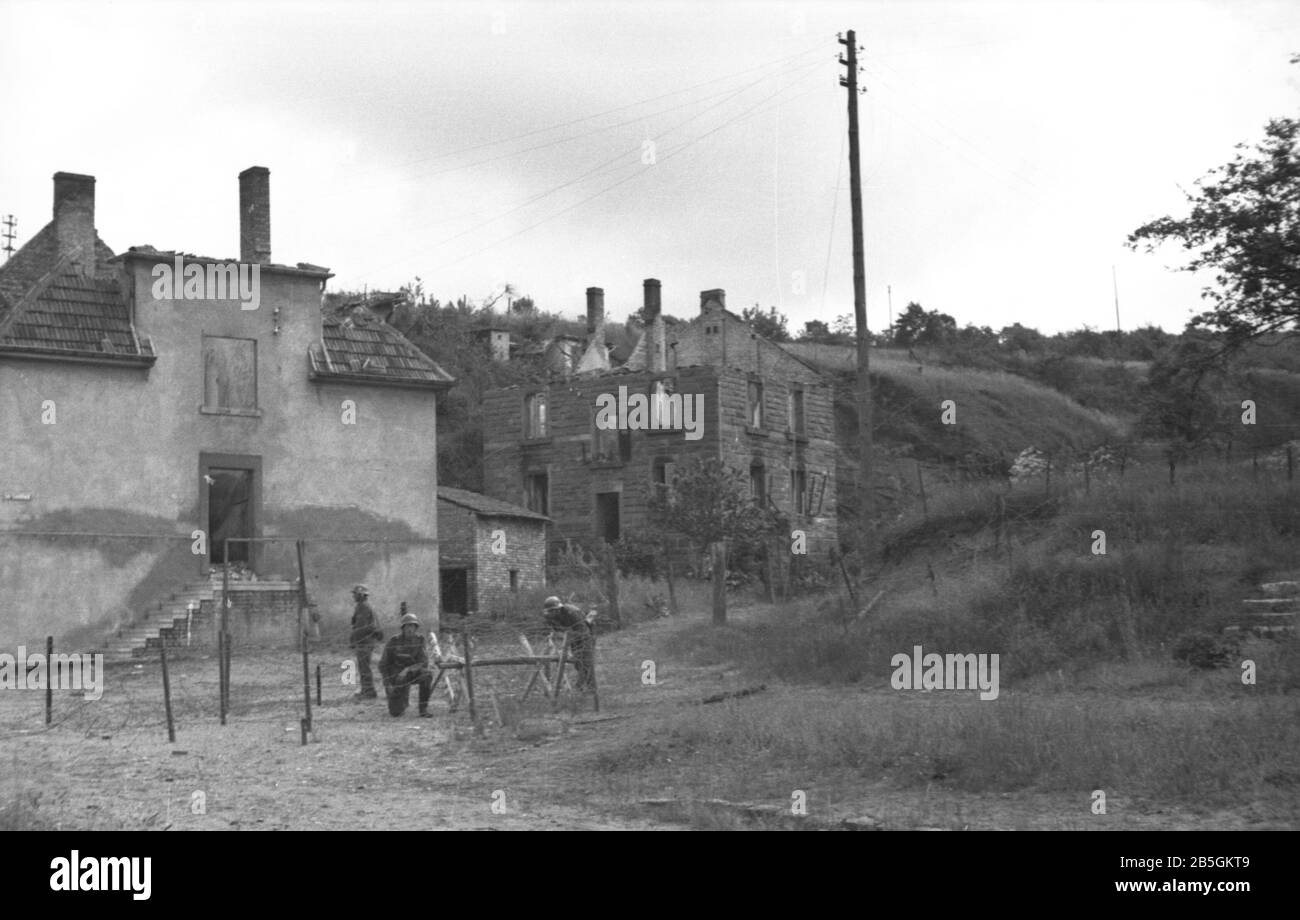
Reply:
<svg viewBox="0 0 1300 920"><path fill-rule="evenodd" d="M858 517L859 547L863 557L871 552L871 517L875 505L871 494L871 377L867 340L867 270L862 255L862 170L858 164L858 39L850 29L840 44L848 58L840 64L848 74L840 86L849 91L849 194L853 205L853 316L858 324Z"/></svg>

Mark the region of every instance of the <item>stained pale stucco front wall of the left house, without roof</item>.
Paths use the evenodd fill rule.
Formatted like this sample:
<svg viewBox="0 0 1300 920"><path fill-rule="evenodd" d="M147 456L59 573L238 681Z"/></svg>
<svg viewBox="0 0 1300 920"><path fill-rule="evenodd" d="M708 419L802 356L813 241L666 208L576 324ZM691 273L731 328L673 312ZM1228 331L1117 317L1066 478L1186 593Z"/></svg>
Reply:
<svg viewBox="0 0 1300 920"><path fill-rule="evenodd" d="M436 617L434 394L309 382L317 278L264 266L260 308L242 311L235 300L155 300L152 265L127 266L136 327L159 355L152 369L0 360L0 495L31 495L0 500L0 643L108 624L199 578L207 564L186 538L207 526L200 452L261 459L259 530L308 542L308 589L326 628L351 615L356 581L370 586L381 619L400 600ZM199 411L203 334L257 340L260 417ZM44 400L53 425L42 424ZM342 421L343 400L355 403L355 425ZM156 537L4 533L13 530ZM277 552L291 559L286 547Z"/></svg>

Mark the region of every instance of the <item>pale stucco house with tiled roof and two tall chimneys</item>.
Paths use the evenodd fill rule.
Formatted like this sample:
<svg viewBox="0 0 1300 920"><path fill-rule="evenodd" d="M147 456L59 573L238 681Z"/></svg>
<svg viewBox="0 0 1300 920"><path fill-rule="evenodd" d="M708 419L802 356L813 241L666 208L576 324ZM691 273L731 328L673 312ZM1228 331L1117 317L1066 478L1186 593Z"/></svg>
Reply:
<svg viewBox="0 0 1300 920"><path fill-rule="evenodd" d="M452 379L376 314L322 317L330 272L272 261L269 182L239 174L235 262L114 256L95 179L57 173L53 220L0 266L0 643L211 604L228 547L250 590L294 590L296 541L326 629L355 582L381 620L436 621Z"/></svg>

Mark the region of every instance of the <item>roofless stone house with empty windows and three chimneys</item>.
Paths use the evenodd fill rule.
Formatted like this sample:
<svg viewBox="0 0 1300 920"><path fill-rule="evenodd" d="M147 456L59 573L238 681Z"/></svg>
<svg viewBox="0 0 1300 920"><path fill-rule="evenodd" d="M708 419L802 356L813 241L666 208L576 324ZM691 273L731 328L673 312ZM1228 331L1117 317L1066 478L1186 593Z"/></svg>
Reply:
<svg viewBox="0 0 1300 920"><path fill-rule="evenodd" d="M729 312L722 290L702 291L698 314L680 324L664 321L659 281L645 281L644 298L646 327L621 365L610 364L604 292L592 287L585 348L545 383L486 395L484 491L550 517L552 547L590 547L646 528L651 490L670 486L677 464L719 457L748 476L755 502L807 534L809 556L824 557L836 539L829 381ZM598 424L602 404L632 394L680 395L702 416Z"/></svg>

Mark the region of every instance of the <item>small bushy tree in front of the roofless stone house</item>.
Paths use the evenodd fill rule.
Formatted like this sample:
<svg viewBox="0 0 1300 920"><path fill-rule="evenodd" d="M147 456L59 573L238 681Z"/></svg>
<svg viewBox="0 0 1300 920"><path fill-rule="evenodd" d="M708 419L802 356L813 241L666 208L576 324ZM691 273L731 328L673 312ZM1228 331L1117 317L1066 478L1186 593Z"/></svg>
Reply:
<svg viewBox="0 0 1300 920"><path fill-rule="evenodd" d="M718 457L694 459L684 464L668 489L656 490L649 500L656 529L685 534L701 548L722 547L715 560L733 550L753 550L764 535L784 530L780 515L760 507L750 496L742 473ZM714 625L727 622L727 567L714 565Z"/></svg>

